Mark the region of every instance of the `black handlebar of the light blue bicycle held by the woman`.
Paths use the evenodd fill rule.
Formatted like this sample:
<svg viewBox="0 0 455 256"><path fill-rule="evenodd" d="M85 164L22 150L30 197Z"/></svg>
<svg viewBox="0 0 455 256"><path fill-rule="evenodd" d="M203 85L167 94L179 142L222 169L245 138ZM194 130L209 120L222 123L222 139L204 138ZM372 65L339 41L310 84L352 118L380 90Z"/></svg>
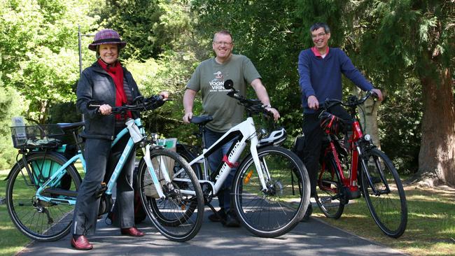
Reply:
<svg viewBox="0 0 455 256"><path fill-rule="evenodd" d="M172 99L163 99L161 95L155 95L148 98L137 97L134 99L134 105L112 107L111 115L125 113L126 111L153 111L165 104L166 101L172 101ZM103 104L104 103L101 101L92 100L88 102L87 108L90 110L99 109Z"/></svg>

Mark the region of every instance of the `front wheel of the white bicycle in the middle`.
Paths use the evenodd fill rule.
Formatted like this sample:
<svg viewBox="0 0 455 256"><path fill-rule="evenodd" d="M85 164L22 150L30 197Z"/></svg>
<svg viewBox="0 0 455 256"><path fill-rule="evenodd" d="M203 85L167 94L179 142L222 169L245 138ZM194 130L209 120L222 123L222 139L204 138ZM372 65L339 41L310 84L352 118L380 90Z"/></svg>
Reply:
<svg viewBox="0 0 455 256"><path fill-rule="evenodd" d="M234 208L241 223L261 237L286 234L303 218L309 204L309 178L290 150L269 146L258 150L267 191L262 191L252 155L242 162L232 183Z"/></svg>

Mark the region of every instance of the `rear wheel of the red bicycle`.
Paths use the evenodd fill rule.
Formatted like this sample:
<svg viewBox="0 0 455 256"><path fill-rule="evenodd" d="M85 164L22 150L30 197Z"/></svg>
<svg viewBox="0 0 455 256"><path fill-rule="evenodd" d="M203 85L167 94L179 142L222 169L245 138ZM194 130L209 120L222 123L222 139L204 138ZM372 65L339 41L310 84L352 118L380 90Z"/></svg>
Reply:
<svg viewBox="0 0 455 256"><path fill-rule="evenodd" d="M333 155L330 154L326 160L328 161L325 162L325 166L329 169L321 170L319 173L314 199L327 218L337 220L344 211L343 184Z"/></svg>

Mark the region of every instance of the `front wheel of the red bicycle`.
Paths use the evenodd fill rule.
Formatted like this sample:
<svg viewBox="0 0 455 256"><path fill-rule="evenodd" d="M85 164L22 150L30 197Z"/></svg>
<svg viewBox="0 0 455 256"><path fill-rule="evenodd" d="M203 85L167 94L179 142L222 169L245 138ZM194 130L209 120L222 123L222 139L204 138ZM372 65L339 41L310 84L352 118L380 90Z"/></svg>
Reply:
<svg viewBox="0 0 455 256"><path fill-rule="evenodd" d="M402 187L398 172L386 154L376 148L364 152L362 159L364 162L362 164L361 185L372 218L384 234L398 238L405 232L407 225L405 190ZM381 194L373 194L367 174L372 177L374 187L383 191ZM387 186L389 190L387 190Z"/></svg>

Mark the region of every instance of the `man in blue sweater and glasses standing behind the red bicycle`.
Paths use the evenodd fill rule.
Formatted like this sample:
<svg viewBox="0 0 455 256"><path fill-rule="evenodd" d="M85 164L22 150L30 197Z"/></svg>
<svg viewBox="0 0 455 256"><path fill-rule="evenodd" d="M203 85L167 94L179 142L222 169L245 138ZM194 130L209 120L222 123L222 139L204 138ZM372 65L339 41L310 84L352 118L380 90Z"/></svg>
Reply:
<svg viewBox="0 0 455 256"><path fill-rule="evenodd" d="M342 73L360 89L373 91L379 100L382 100L382 94L353 66L351 59L342 50L328 47L330 28L327 24L315 23L309 31L314 47L300 52L298 70L303 106L303 162L309 174L311 197L314 197L323 138L316 113L319 104L326 99L342 99ZM342 106L335 106L330 112L339 118L351 119ZM310 204L303 220L309 220L311 213Z"/></svg>

